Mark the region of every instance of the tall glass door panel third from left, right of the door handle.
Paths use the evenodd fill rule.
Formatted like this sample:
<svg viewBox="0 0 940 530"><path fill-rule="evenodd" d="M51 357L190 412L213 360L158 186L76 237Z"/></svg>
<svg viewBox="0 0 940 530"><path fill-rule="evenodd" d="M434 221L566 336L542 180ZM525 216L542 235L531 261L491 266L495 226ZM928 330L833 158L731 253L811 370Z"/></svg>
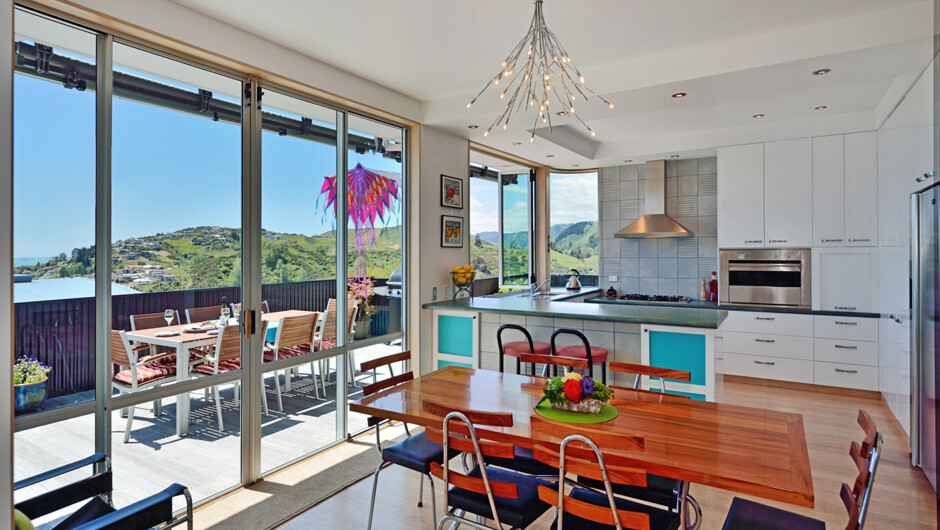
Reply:
<svg viewBox="0 0 940 530"><path fill-rule="evenodd" d="M335 331L313 333L329 322L336 327L336 196L329 184L336 179L337 114L270 89L262 102L261 292L269 363L336 344ZM265 367L262 472L338 439L335 377L327 377L335 366L328 359L290 370Z"/></svg>

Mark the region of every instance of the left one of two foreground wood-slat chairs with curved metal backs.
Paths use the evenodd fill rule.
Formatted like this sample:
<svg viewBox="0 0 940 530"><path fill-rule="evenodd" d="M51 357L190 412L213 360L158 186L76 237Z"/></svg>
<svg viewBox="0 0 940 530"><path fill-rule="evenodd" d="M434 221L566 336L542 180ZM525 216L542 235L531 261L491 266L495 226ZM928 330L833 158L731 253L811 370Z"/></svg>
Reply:
<svg viewBox="0 0 940 530"><path fill-rule="evenodd" d="M429 411L437 407L443 412L448 408L427 402L424 406ZM456 428L451 423L456 423ZM511 426L512 414L451 410L444 416L441 429L426 429L428 439L443 445L445 452L469 453L476 462L468 473L451 469L449 459L431 464L431 474L444 482L445 514L438 528L447 523L491 528L469 519L468 514L492 519L495 528L503 528L503 523L513 528L529 527L549 509L549 504L538 497L539 486L548 483L489 465L489 458L513 458L515 448L512 443L496 441L495 434L477 431L474 425Z"/></svg>

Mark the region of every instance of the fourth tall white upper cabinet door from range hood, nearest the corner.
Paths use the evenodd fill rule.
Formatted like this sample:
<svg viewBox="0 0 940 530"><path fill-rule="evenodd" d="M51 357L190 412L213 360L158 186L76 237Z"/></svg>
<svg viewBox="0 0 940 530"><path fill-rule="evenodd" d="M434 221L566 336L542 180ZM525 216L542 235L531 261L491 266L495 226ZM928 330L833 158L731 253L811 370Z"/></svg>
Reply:
<svg viewBox="0 0 940 530"><path fill-rule="evenodd" d="M878 136L845 135L845 244L878 244Z"/></svg>

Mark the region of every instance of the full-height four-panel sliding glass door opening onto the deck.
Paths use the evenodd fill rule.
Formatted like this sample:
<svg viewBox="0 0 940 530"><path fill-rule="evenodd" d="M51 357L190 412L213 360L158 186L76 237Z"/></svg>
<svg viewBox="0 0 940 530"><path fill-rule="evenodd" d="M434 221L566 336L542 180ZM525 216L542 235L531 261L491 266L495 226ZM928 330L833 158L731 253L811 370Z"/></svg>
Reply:
<svg viewBox="0 0 940 530"><path fill-rule="evenodd" d="M405 131L15 16L16 479L98 450L119 505L198 502L364 428L361 362L407 346Z"/></svg>

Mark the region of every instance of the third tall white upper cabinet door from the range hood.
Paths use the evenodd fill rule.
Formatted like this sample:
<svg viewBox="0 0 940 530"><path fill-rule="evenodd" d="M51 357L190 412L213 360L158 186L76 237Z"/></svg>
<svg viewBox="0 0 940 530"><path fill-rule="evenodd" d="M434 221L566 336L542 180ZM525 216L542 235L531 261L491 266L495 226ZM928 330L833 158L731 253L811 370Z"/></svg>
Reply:
<svg viewBox="0 0 940 530"><path fill-rule="evenodd" d="M841 134L813 138L813 246L841 247L845 242L844 138Z"/></svg>

